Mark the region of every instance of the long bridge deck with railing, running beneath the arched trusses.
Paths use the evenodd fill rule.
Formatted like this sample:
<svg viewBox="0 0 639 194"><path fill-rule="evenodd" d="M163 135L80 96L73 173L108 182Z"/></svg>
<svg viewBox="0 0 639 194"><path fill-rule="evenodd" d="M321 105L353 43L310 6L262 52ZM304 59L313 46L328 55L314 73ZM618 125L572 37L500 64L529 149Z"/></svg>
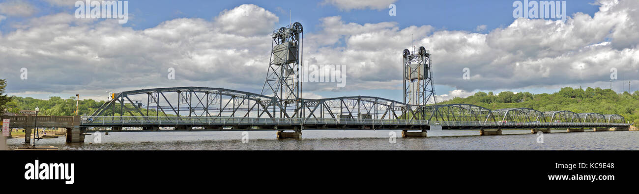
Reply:
<svg viewBox="0 0 639 194"><path fill-rule="evenodd" d="M304 126L304 129L424 129L440 125L442 130L470 128L596 128L629 127L626 123L491 122L375 120L357 118L238 118L238 117L156 117L93 116L81 120L82 127L233 127L236 130L278 130ZM257 128L251 128L257 127ZM277 127L277 129L275 128Z"/></svg>

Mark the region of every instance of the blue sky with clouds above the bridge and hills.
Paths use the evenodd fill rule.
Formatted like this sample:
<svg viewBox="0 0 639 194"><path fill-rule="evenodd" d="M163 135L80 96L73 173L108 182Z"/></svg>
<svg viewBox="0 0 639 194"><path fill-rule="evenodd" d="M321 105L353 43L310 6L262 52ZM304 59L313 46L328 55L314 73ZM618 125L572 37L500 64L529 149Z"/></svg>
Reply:
<svg viewBox="0 0 639 194"><path fill-rule="evenodd" d="M304 83L305 98L401 101L401 52L413 46L432 53L438 101L610 88L612 69L613 90L639 88L639 1L566 1L566 21L515 18L514 2L127 1L119 24L75 17L73 0L2 0L0 79L9 95L38 99L190 86L259 94L270 34L291 21L304 25L306 64L346 67L344 87Z"/></svg>

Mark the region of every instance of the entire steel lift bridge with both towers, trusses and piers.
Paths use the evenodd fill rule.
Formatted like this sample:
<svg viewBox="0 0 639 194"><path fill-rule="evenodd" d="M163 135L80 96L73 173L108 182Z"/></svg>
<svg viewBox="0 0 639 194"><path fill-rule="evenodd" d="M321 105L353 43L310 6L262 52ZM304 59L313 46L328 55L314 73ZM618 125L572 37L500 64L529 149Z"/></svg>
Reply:
<svg viewBox="0 0 639 194"><path fill-rule="evenodd" d="M302 130L313 129L402 130L403 137L425 137L427 130L479 130L481 135L498 135L509 128L527 128L533 133L551 128L567 132L629 128L619 114L437 104L432 56L423 46L417 52L401 53L403 102L371 96L304 99L302 79L298 79L303 65L302 31L296 22L273 32L261 94L210 87L132 90L114 94L90 116L72 121L61 117L37 120L66 119L68 142L84 142L84 134L93 131L273 130L279 138L300 138ZM33 127L33 118L12 119L12 126Z"/></svg>

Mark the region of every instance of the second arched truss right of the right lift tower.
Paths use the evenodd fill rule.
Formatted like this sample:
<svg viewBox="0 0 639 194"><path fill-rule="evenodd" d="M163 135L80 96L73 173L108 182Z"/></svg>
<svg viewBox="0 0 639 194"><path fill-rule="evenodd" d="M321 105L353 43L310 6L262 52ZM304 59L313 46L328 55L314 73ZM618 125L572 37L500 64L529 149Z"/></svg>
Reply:
<svg viewBox="0 0 639 194"><path fill-rule="evenodd" d="M509 122L547 122L544 113L527 107L507 108L493 110L495 118L499 121Z"/></svg>

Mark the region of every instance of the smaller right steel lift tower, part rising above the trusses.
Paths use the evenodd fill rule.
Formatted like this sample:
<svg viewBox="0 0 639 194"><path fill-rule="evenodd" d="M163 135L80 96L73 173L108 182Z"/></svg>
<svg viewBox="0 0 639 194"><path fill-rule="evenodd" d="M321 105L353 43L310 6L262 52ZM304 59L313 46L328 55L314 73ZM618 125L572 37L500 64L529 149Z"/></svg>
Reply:
<svg viewBox="0 0 639 194"><path fill-rule="evenodd" d="M402 62L404 103L421 106L436 104L431 53L424 46L420 46L417 52L404 49Z"/></svg>

